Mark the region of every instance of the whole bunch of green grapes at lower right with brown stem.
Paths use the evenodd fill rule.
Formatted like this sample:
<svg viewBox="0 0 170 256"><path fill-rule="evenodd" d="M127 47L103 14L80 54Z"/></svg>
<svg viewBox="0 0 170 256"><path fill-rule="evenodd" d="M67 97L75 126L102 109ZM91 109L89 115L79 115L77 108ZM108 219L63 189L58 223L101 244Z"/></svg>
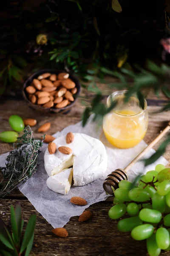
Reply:
<svg viewBox="0 0 170 256"><path fill-rule="evenodd" d="M114 196L109 217L130 215L119 221L121 232L131 232L135 240L146 239L150 256L159 256L161 249L170 250L170 168L158 164L140 177L138 186L122 180Z"/></svg>

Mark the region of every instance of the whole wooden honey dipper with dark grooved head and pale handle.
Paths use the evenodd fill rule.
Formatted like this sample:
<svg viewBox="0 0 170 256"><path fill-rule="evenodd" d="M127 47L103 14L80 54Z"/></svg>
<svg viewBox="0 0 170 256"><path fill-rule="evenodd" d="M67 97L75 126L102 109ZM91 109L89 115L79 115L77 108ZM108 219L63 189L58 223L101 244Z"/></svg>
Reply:
<svg viewBox="0 0 170 256"><path fill-rule="evenodd" d="M164 137L164 135L170 130L170 122L168 123L167 127L164 128L164 130L146 147L144 150L135 157L126 167L125 169L116 169L114 172L111 172L111 174L108 175L108 177L105 179L103 183L103 188L105 191L113 195L113 189L117 189L119 187L119 182L121 180L127 180L127 171L131 169L131 167L137 163L144 154L150 150L161 138Z"/></svg>

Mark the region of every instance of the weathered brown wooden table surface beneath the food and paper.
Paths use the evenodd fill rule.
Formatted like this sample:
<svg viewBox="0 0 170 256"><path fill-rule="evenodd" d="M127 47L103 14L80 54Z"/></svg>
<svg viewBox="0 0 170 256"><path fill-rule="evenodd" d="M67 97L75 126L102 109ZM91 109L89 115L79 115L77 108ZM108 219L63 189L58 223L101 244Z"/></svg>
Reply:
<svg viewBox="0 0 170 256"><path fill-rule="evenodd" d="M107 94L107 91L105 94ZM82 90L81 95L85 96L86 91ZM92 96L88 96L88 100L90 100ZM106 96L104 96L105 99ZM149 93L147 98L149 113L159 110L160 106L164 105L167 100L163 96L158 100L153 93ZM40 138L42 134L37 133L37 128L40 125L45 122L51 122L48 134L54 134L68 125L79 122L83 109L84 107L79 99L67 115L45 114L42 116L41 113L29 108L23 99L16 100L4 97L0 101L0 131L10 130L8 117L16 114L22 118L37 119L37 125L33 127L34 137ZM170 111L157 115L150 114L148 130L144 141L150 143L159 134L159 131L165 127L168 120L170 120ZM0 154L6 153L11 149L11 144L0 143ZM170 147L167 148L164 157L170 161ZM36 211L18 189L13 194L0 200L0 216L6 224L9 224L10 205L15 205L17 202L21 204L26 221L28 221L31 213L37 215L31 256L144 256L147 253L145 241L135 241L130 237L130 233L119 232L116 227L118 221L111 220L108 217L108 210L113 205L113 197L91 205L89 209L93 211L93 217L87 222L79 223L78 216L72 217L68 224L65 225L65 228L68 230L67 238L55 236L51 232L52 226ZM161 255L164 254L165 252L161 253ZM170 255L170 252L166 252L166 255Z"/></svg>

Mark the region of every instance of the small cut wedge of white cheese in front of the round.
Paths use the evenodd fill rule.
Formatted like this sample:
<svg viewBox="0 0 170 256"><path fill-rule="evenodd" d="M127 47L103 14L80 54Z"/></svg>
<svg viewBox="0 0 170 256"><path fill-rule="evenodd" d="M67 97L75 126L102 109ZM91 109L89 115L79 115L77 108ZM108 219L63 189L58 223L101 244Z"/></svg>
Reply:
<svg viewBox="0 0 170 256"><path fill-rule="evenodd" d="M70 190L73 180L73 169L65 169L54 176L47 179L47 186L49 189L60 194L67 194Z"/></svg>

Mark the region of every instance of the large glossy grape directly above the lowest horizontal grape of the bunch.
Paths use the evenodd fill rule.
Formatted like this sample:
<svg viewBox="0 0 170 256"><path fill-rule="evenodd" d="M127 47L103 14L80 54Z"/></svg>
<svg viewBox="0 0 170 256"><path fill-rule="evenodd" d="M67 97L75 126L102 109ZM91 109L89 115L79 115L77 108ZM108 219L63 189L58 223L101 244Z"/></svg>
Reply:
<svg viewBox="0 0 170 256"><path fill-rule="evenodd" d="M158 223L161 221L162 215L161 212L153 209L142 209L139 212L139 218L142 221L150 222L150 223Z"/></svg>

